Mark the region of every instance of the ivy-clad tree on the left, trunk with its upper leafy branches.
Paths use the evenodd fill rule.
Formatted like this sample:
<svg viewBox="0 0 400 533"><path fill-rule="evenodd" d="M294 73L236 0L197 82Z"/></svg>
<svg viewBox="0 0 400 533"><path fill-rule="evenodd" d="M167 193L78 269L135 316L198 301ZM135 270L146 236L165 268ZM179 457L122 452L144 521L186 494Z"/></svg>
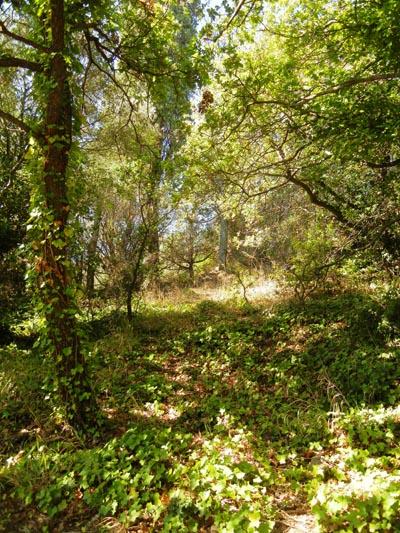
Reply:
<svg viewBox="0 0 400 533"><path fill-rule="evenodd" d="M27 71L31 76L38 119L23 120L4 108L0 118L32 139L31 169L37 192L30 225L36 231L32 247L36 252L40 249L35 259L40 306L58 392L69 421L80 429L93 423L96 407L81 348L68 246L73 233L68 224L69 171L81 124L78 104L93 68L121 92L132 110L135 99L126 90L126 78L132 74L149 83L168 77L177 86L185 77L193 79L190 61L177 70L166 53L179 31L171 7L164 12L158 3L117 5L111 0L1 5L0 68ZM194 50L194 41L191 46Z"/></svg>

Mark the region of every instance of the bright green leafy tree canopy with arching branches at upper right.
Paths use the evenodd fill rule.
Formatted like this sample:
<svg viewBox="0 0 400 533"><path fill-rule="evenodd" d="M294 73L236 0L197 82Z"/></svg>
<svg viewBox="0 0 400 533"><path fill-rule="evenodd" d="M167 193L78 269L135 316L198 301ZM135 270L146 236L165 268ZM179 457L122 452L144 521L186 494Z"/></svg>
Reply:
<svg viewBox="0 0 400 533"><path fill-rule="evenodd" d="M227 32L191 172L223 180L245 201L294 185L346 231L347 254L368 248L371 259L393 267L395 4L268 4L261 23Z"/></svg>

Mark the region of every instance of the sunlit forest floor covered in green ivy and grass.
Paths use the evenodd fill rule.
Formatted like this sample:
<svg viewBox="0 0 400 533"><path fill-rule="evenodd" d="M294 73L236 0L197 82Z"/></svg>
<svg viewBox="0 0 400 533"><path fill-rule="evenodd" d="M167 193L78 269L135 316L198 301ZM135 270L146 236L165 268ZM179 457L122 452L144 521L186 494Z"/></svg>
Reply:
<svg viewBox="0 0 400 533"><path fill-rule="evenodd" d="M0 348L0 531L400 531L397 308L268 287L88 313L90 445L40 354Z"/></svg>

